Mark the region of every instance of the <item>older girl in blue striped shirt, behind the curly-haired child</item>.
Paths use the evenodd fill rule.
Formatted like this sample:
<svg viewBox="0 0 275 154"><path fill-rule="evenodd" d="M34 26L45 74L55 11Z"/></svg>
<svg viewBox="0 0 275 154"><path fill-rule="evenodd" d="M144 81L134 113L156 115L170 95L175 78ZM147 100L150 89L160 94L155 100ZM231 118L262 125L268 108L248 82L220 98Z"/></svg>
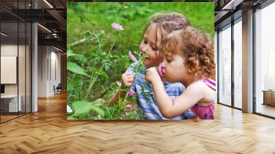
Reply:
<svg viewBox="0 0 275 154"><path fill-rule="evenodd" d="M159 45L162 39L170 32L181 30L190 26L190 23L184 15L177 12L157 12L150 17L150 21L146 24L140 42L140 54L147 55L144 61L144 69L149 67L157 67L162 62L162 54L159 52ZM153 96L151 85L148 87L145 80L145 71L140 69L136 74L133 67L137 65L133 63L124 74L122 74L121 87L131 87L131 95L135 93L138 115L144 115L148 120L166 120L157 107L157 102ZM164 91L167 92L169 98L175 99L184 91L184 86L181 83L168 83L165 80L161 84L164 86ZM151 96L145 95L143 91L149 91ZM116 94L109 100L109 105L118 104L119 99L125 98L125 91L117 91ZM178 116L170 118L170 120L181 120L194 117L194 113L190 110L182 112Z"/></svg>

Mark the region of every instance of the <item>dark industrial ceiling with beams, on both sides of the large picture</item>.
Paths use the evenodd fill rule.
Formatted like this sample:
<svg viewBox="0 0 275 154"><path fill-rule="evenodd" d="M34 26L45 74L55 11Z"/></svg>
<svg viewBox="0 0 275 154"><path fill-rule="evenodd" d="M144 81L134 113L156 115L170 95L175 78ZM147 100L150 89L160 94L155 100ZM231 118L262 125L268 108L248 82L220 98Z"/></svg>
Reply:
<svg viewBox="0 0 275 154"><path fill-rule="evenodd" d="M39 45L56 45L65 50L67 46L66 5L67 2L74 1L92 0L0 0L1 22L5 23L2 24L3 28L11 36L12 34L14 36L17 34L17 28L14 28L11 23L18 20L37 22L44 27L38 26ZM214 0L215 28L237 11L247 10L248 8L260 5L264 1L266 0ZM2 31L3 28L1 29ZM23 35L21 32L24 31L19 30L19 37Z"/></svg>

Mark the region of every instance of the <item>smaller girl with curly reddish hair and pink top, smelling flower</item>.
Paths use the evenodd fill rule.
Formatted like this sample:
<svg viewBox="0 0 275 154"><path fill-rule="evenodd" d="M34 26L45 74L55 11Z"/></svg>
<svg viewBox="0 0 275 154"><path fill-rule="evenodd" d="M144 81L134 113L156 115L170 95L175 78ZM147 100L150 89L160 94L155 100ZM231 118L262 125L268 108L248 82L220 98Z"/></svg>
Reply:
<svg viewBox="0 0 275 154"><path fill-rule="evenodd" d="M197 120L214 119L216 83L214 47L210 37L195 28L184 28L168 34L160 45L164 56L162 71L168 82L186 87L181 96L171 99L154 67L146 69L146 80L153 85L159 110L166 118L191 109Z"/></svg>

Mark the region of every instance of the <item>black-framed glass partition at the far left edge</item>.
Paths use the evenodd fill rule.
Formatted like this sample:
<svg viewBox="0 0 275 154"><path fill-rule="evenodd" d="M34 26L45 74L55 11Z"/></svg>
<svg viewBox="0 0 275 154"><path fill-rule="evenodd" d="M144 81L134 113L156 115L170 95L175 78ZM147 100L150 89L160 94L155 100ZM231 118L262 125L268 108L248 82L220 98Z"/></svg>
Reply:
<svg viewBox="0 0 275 154"><path fill-rule="evenodd" d="M10 3L8 1L3 3ZM1 4L3 4L1 1ZM13 1L14 9L28 9L30 1ZM0 8L0 122L31 111L31 23ZM10 70L7 70L10 66ZM12 71L12 70L15 71ZM12 76L7 75L5 72ZM12 78L13 77L13 78Z"/></svg>

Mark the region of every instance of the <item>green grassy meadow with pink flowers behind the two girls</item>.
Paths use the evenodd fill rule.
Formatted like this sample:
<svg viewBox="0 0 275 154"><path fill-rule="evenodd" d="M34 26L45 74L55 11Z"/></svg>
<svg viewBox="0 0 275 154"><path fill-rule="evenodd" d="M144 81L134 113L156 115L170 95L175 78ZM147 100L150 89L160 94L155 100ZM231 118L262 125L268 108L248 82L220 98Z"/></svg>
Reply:
<svg viewBox="0 0 275 154"><path fill-rule="evenodd" d="M119 88L121 74L138 54L144 26L155 12L184 14L191 25L214 38L214 3L69 2L67 3L68 120L140 120L135 98L118 105L108 101ZM114 30L112 23L124 30ZM127 91L127 89L124 89Z"/></svg>

